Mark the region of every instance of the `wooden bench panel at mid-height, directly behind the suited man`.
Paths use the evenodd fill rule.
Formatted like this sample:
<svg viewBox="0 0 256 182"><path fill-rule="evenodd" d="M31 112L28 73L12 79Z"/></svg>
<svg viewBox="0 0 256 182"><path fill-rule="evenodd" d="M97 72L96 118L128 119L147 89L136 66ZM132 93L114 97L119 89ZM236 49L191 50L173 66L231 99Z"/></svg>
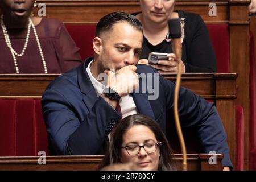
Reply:
<svg viewBox="0 0 256 182"><path fill-rule="evenodd" d="M162 74L165 78L176 80L175 74ZM17 97L40 97L48 84L59 74L0 74L0 98L17 98ZM181 77L181 86L193 90L196 94L207 98L216 98L215 80L236 80L236 73L185 73ZM232 82L232 84L234 84ZM201 89L198 85L204 85ZM228 86L228 85L226 85ZM22 88L22 89L20 89ZM220 94L220 96L223 94ZM235 95L233 95L234 97ZM229 98L228 94L226 97ZM233 98L234 99L234 98Z"/></svg>

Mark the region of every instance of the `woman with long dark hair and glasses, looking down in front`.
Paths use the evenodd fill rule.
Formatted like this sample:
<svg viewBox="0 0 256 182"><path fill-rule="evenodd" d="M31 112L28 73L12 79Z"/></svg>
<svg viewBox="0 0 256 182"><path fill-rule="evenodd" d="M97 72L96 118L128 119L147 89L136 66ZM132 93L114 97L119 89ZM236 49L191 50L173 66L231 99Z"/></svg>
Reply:
<svg viewBox="0 0 256 182"><path fill-rule="evenodd" d="M174 170L171 154L158 124L142 114L134 114L115 127L99 169L118 169L112 165L122 163L120 170Z"/></svg>

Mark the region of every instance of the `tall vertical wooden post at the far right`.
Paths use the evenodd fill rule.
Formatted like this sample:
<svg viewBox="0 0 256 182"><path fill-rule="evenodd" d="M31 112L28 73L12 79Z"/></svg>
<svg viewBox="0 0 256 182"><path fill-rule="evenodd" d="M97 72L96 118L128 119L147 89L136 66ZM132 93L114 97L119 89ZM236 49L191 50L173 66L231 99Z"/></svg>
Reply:
<svg viewBox="0 0 256 182"><path fill-rule="evenodd" d="M249 0L230 0L230 71L237 78L236 105L245 114L245 162L249 161ZM245 169L248 169L247 162Z"/></svg>

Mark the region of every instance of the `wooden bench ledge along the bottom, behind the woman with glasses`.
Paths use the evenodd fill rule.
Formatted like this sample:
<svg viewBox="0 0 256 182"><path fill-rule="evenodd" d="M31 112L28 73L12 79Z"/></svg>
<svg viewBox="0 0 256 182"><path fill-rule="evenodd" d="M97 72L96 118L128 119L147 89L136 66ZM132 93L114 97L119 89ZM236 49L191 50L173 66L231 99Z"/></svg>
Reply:
<svg viewBox="0 0 256 182"><path fill-rule="evenodd" d="M210 165L209 158L212 155L208 154L187 154L188 170L189 171L213 171L222 170L223 155L217 154L217 164ZM22 157L0 157L0 171L3 170L96 170L98 164L102 160L102 155L87 155L87 156L46 156L46 165L39 165L37 156L22 156ZM177 169L182 168L182 155L174 154L174 161Z"/></svg>

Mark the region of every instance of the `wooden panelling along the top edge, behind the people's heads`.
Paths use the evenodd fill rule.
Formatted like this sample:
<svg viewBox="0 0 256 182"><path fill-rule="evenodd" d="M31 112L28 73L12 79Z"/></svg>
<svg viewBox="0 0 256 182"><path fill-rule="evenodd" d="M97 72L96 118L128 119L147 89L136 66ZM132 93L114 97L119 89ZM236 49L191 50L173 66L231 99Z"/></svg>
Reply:
<svg viewBox="0 0 256 182"><path fill-rule="evenodd" d="M57 18L65 23L96 23L102 16L113 11L126 11L127 13L134 13L140 11L139 0L123 0L123 1L109 1L109 0L44 0L38 3L46 3L47 17ZM217 5L217 16L210 17L208 15L209 3L214 2ZM201 0L187 0L177 1L175 10L191 11L200 14L206 22L220 23L228 22L228 1L201 1ZM36 10L35 10L36 13Z"/></svg>

